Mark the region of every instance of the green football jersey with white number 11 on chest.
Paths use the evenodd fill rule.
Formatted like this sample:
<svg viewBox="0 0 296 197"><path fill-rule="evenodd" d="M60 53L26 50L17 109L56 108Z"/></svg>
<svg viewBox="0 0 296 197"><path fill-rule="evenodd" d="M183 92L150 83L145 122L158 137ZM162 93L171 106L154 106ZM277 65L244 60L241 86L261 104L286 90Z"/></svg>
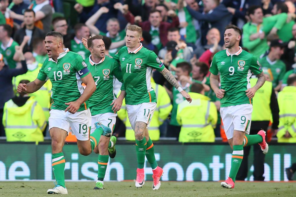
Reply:
<svg viewBox="0 0 296 197"><path fill-rule="evenodd" d="M141 44L133 52L124 46L115 55L114 60L115 66L120 64L121 67L126 90L126 104L138 105L144 102L156 102L156 95L151 87L152 69L161 72L165 68L157 55Z"/></svg>

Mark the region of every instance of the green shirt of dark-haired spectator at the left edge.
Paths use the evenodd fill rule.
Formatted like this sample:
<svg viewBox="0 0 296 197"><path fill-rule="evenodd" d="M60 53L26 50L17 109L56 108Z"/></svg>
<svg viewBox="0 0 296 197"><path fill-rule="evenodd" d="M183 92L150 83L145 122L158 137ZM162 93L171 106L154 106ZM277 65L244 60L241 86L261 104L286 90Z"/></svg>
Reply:
<svg viewBox="0 0 296 197"><path fill-rule="evenodd" d="M4 63L10 69L14 69L17 66L16 61L13 60L15 46L18 46L18 44L12 38L10 38L6 47L4 47L2 43L0 46L0 53L3 55Z"/></svg>

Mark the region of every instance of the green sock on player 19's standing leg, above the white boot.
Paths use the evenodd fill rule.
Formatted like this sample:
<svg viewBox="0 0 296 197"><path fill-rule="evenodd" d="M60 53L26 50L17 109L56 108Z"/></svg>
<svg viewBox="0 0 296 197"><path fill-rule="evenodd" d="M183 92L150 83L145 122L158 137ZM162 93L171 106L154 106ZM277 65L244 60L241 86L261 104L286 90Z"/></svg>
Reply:
<svg viewBox="0 0 296 197"><path fill-rule="evenodd" d="M52 154L52 171L57 185L65 188L65 158L62 152Z"/></svg>

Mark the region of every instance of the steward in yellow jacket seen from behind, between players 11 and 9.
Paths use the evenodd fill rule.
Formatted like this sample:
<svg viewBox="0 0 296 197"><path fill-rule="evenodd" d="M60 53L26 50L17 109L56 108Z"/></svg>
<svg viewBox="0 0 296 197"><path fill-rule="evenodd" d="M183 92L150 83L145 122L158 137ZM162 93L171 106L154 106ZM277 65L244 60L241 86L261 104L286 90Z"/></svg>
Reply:
<svg viewBox="0 0 296 197"><path fill-rule="evenodd" d="M176 118L181 125L179 142L215 142L217 108L204 94L202 84L194 83L189 92L192 102L185 100L178 105Z"/></svg>

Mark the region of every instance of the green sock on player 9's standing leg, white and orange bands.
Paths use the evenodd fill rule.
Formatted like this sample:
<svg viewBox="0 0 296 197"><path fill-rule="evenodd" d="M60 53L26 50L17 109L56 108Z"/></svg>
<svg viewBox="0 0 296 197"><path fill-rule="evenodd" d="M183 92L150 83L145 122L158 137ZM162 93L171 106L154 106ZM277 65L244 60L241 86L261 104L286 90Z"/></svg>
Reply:
<svg viewBox="0 0 296 197"><path fill-rule="evenodd" d="M237 172L239 171L239 167L242 163L243 156L244 156L243 146L233 145L231 168L229 172L229 177L232 178L233 182L235 182L235 177L237 176Z"/></svg>

